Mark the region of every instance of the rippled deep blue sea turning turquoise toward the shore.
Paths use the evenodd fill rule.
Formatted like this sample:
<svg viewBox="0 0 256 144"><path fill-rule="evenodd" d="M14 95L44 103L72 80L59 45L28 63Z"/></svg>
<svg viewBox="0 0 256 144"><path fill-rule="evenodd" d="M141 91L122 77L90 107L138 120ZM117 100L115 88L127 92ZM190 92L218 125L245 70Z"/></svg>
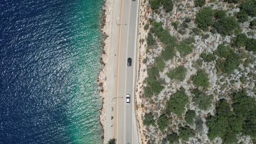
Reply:
<svg viewBox="0 0 256 144"><path fill-rule="evenodd" d="M103 3L0 1L0 143L102 143Z"/></svg>

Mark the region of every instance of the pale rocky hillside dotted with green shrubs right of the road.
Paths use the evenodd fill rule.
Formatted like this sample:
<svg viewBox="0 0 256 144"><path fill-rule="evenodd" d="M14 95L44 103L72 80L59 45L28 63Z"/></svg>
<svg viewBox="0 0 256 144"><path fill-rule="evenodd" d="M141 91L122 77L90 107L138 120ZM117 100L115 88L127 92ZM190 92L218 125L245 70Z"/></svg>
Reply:
<svg viewBox="0 0 256 144"><path fill-rule="evenodd" d="M143 143L256 142L256 1L142 0Z"/></svg>

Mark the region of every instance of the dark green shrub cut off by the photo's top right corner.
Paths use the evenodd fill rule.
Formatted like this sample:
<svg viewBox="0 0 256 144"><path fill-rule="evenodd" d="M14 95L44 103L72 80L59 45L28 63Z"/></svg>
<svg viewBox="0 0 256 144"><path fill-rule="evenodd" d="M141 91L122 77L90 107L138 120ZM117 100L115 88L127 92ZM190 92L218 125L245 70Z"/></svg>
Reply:
<svg viewBox="0 0 256 144"><path fill-rule="evenodd" d="M240 4L240 9L246 11L250 16L256 16L256 1L246 0Z"/></svg>

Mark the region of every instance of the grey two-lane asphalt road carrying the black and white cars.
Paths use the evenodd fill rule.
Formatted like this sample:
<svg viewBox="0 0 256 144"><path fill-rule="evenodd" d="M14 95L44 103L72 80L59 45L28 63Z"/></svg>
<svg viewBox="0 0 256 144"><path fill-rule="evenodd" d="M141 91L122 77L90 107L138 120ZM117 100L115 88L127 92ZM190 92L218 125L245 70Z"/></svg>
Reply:
<svg viewBox="0 0 256 144"><path fill-rule="evenodd" d="M139 1L123 0L121 17L117 20L120 28L118 82L115 121L117 143L138 142L137 122L135 115L135 81L136 81L136 52L137 52L137 25ZM132 66L127 67L127 58L132 59ZM131 104L126 104L126 94L131 95ZM121 98L123 97L123 98Z"/></svg>

